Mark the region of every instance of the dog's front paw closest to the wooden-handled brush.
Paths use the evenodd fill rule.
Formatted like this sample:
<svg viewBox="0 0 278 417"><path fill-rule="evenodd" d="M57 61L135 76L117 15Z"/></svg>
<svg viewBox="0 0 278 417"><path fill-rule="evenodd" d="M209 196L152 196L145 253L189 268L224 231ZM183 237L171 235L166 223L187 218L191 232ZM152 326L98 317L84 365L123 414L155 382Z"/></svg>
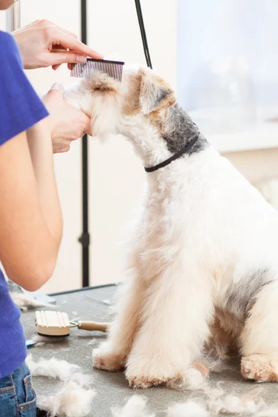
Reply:
<svg viewBox="0 0 278 417"><path fill-rule="evenodd" d="M124 370L125 360L124 354L113 352L106 345L92 351L92 366L97 369L120 372Z"/></svg>

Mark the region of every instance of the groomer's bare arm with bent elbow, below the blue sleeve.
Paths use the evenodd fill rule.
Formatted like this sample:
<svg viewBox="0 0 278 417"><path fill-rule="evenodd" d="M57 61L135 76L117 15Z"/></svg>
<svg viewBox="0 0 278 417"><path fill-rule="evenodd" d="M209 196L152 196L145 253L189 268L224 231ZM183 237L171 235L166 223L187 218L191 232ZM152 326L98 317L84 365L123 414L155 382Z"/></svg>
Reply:
<svg viewBox="0 0 278 417"><path fill-rule="evenodd" d="M45 124L0 146L0 259L8 277L28 291L52 275L62 220L51 137Z"/></svg>

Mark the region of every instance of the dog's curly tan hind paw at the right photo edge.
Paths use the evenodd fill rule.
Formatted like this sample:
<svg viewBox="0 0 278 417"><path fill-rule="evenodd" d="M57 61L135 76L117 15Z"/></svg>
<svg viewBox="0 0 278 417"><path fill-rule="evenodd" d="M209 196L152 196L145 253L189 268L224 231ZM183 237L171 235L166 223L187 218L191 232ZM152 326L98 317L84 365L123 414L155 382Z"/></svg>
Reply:
<svg viewBox="0 0 278 417"><path fill-rule="evenodd" d="M241 373L257 382L278 382L278 356L251 354L243 357Z"/></svg>

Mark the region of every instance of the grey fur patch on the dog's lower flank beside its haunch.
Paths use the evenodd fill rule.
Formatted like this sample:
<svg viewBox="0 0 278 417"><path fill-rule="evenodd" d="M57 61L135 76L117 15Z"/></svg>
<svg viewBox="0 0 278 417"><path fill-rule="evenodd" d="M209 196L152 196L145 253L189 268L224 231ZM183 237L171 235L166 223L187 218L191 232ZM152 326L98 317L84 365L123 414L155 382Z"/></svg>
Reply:
<svg viewBox="0 0 278 417"><path fill-rule="evenodd" d="M250 271L237 284L232 284L228 288L222 309L241 322L245 321L256 302L256 295L263 286L272 281L272 274L267 268Z"/></svg>

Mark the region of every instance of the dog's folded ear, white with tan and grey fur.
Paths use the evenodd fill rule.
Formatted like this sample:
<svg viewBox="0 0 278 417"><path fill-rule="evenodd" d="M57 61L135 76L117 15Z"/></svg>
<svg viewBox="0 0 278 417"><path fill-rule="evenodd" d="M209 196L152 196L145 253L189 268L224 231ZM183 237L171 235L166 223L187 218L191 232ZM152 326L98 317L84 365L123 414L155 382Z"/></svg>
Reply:
<svg viewBox="0 0 278 417"><path fill-rule="evenodd" d="M165 83L148 68L140 72L140 96L139 103L142 113L149 115L163 107L170 107L175 102L174 92L170 85Z"/></svg>

